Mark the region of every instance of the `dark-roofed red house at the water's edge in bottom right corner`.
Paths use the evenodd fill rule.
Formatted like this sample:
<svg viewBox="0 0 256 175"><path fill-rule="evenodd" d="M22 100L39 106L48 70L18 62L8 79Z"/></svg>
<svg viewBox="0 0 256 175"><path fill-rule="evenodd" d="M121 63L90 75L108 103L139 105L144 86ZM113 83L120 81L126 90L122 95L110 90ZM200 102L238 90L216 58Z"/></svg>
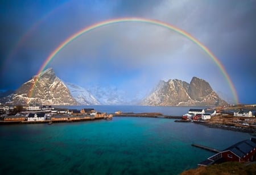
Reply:
<svg viewBox="0 0 256 175"><path fill-rule="evenodd" d="M200 166L207 166L217 162L225 161L255 161L256 160L256 138L250 140L243 140L223 151L209 157L207 160L198 164Z"/></svg>

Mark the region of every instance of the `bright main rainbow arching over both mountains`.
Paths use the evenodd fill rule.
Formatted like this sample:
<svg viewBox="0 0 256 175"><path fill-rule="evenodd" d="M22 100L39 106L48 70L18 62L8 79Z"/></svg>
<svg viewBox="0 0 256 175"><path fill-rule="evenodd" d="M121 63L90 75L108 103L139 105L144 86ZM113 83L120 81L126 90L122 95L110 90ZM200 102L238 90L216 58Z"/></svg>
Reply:
<svg viewBox="0 0 256 175"><path fill-rule="evenodd" d="M33 91L34 91L35 84L38 81L38 78L40 78L39 77L40 74L43 72L43 70L46 68L46 66L49 64L49 62L53 59L53 57L55 57L55 55L57 55L57 53L59 53L61 51L61 49L63 49L71 41L75 40L76 38L78 38L82 34L85 34L86 32L92 31L92 30L94 30L96 28L103 27L103 26L108 26L110 24L125 23L125 22L148 23L148 24L154 24L154 25L157 25L157 26L165 27L165 28L168 28L168 29L170 29L172 31L175 31L178 34L183 35L186 38L188 38L189 40L193 41L193 43L197 44L201 49L203 49L203 51L205 53L207 53L207 55L209 55L210 58L217 64L218 68L220 68L222 74L224 75L224 77L225 77L226 81L228 82L228 85L229 85L229 87L230 87L230 89L232 91L234 101L236 103L238 103L238 95L236 93L236 89L235 89L235 87L234 87L234 85L233 85L233 83L232 83L228 73L226 72L226 70L225 70L224 66L221 64L221 62L217 59L217 57L214 56L213 53L210 52L210 50L207 47L205 47L205 45L200 43L199 40L197 40L196 38L194 38L193 36L191 36L187 32L181 30L180 28L177 28L175 26L171 26L168 23L160 22L159 20L146 19L146 18L117 18L117 19L105 20L103 22L95 23L95 24L92 24L91 26L85 27L82 30L76 32L75 34L69 36L69 38L65 39L63 41L63 43L61 43L57 48L55 48L51 52L51 54L47 57L47 59L44 61L42 67L39 69L39 71L37 73L34 85L31 86L30 93L28 94L28 97L32 97L33 96Z"/></svg>

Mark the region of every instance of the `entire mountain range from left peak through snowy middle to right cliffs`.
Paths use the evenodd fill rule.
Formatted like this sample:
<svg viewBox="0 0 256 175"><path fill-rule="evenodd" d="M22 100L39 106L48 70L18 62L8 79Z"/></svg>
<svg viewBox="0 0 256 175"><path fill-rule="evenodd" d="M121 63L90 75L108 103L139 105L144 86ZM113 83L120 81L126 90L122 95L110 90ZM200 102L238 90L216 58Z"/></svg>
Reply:
<svg viewBox="0 0 256 175"><path fill-rule="evenodd" d="M33 87L33 89L31 88ZM33 90L31 92L31 90ZM32 97L30 94L32 93ZM56 76L52 68L33 76L13 94L1 98L1 102L15 105L41 103L45 105L138 105L150 106L216 106L227 103L218 97L209 83L193 77L191 82L181 80L159 81L151 93L144 98L126 99L125 91L112 86L84 87L64 82ZM135 100L136 99L136 100Z"/></svg>

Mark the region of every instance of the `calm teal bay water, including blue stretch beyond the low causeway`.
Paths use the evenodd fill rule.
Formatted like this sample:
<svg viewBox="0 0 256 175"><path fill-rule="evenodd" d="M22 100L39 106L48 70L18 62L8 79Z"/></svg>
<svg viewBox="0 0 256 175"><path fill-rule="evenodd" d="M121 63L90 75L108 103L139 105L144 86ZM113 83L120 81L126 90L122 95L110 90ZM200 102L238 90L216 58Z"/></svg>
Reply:
<svg viewBox="0 0 256 175"><path fill-rule="evenodd" d="M94 109L112 113L127 108L137 113L133 106L98 107ZM158 107L148 109L138 112L160 112ZM176 115L172 107L163 109ZM241 132L163 118L0 126L0 174L179 174L213 155L192 143L224 149L249 138Z"/></svg>

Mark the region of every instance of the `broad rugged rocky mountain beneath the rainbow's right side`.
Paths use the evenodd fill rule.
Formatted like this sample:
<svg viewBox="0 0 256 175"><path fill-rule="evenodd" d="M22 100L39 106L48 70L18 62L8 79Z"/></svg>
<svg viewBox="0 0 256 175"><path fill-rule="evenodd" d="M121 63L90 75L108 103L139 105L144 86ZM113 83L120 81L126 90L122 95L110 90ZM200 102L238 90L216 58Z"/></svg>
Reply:
<svg viewBox="0 0 256 175"><path fill-rule="evenodd" d="M141 105L218 106L227 103L218 97L207 81L193 77L190 84L177 79L160 81Z"/></svg>

